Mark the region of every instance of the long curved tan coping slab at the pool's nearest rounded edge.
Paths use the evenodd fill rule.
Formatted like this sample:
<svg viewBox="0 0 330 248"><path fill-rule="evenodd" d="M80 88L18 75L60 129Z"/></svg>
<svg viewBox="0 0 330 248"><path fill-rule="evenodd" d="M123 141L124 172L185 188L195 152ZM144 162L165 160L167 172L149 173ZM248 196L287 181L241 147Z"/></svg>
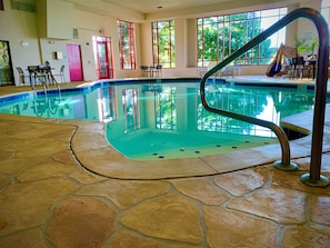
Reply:
<svg viewBox="0 0 330 248"><path fill-rule="evenodd" d="M77 152L76 156L81 165L89 170L112 178L163 179L216 172L201 159L138 161L124 158L110 147L89 152Z"/></svg>

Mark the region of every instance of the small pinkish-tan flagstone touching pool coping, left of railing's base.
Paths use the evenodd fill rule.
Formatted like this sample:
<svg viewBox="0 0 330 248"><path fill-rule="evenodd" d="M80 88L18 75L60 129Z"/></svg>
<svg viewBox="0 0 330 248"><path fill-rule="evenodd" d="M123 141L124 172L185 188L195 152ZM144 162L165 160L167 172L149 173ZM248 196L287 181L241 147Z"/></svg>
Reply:
<svg viewBox="0 0 330 248"><path fill-rule="evenodd" d="M239 170L214 177L214 183L233 196L242 196L247 192L251 192L260 188L266 180L262 175L252 169Z"/></svg>

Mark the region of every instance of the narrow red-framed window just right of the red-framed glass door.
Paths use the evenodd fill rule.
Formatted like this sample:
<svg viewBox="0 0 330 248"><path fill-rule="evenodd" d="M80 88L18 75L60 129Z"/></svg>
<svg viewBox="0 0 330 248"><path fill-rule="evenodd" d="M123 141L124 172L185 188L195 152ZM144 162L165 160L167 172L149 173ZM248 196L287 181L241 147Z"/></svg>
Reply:
<svg viewBox="0 0 330 248"><path fill-rule="evenodd" d="M121 69L136 69L134 23L117 21Z"/></svg>

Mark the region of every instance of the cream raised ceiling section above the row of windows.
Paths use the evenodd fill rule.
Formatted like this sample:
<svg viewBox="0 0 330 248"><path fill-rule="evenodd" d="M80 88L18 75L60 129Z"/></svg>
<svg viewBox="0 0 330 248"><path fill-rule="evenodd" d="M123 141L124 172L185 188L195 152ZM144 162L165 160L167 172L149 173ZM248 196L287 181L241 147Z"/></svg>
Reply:
<svg viewBox="0 0 330 248"><path fill-rule="evenodd" d="M219 11L276 8L311 0L62 0L76 9L143 22L179 17L202 17ZM161 7L161 8L160 8Z"/></svg>

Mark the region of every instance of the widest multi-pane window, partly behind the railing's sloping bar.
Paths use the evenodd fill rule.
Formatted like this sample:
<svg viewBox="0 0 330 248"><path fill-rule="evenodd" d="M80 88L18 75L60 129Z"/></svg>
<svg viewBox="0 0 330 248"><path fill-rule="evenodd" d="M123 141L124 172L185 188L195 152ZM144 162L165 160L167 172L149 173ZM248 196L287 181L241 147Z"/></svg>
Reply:
<svg viewBox="0 0 330 248"><path fill-rule="evenodd" d="M197 19L198 67L222 61L287 14L287 8ZM286 29L236 60L237 65L268 65L286 40Z"/></svg>

